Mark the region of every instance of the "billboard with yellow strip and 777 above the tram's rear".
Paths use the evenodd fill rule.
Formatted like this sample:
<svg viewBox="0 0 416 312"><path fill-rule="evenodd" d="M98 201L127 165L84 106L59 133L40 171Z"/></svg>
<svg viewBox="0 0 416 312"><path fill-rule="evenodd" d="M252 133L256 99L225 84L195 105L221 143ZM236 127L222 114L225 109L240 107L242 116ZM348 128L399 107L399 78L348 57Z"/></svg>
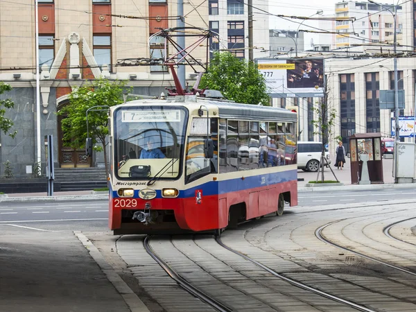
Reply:
<svg viewBox="0 0 416 312"><path fill-rule="evenodd" d="M258 59L257 67L273 98L324 96L323 58Z"/></svg>

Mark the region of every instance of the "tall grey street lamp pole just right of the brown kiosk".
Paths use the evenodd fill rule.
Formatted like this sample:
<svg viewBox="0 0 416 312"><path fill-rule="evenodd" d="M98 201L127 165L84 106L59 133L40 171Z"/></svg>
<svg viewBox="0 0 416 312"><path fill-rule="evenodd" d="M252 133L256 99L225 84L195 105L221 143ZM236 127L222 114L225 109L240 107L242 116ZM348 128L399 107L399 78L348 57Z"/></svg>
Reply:
<svg viewBox="0 0 416 312"><path fill-rule="evenodd" d="M390 14L393 17L394 21L394 35L393 35L393 51L394 51L394 58L393 58L393 64L394 64L394 70L395 70L395 121L396 121L396 128L395 128L395 153L393 154L395 157L395 183L399 182L399 178L397 177L397 142L400 139L400 128L399 128L399 80L397 80L397 36L396 36L396 15L393 13L389 8L383 6L383 4L376 3L372 0L368 0L371 3L376 4L377 6L381 6L385 10L388 10ZM397 12L397 5L395 5L395 12Z"/></svg>

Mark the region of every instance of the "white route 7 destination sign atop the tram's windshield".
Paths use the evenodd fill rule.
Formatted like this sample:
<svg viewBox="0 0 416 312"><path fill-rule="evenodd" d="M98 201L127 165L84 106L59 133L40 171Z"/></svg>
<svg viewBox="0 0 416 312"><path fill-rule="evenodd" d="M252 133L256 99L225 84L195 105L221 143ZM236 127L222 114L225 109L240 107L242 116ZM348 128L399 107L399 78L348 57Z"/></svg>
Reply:
<svg viewBox="0 0 416 312"><path fill-rule="evenodd" d="M180 110L166 110L166 111L154 111L154 110L126 110L123 112L123 123L131 122L179 122Z"/></svg>

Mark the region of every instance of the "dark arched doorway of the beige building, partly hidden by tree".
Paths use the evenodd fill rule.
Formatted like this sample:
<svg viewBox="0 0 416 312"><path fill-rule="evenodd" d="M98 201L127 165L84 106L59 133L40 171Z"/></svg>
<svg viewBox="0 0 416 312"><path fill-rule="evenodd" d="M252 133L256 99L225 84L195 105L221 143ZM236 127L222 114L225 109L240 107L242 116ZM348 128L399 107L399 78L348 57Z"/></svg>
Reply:
<svg viewBox="0 0 416 312"><path fill-rule="evenodd" d="M59 99L58 99L59 100ZM59 103L59 102L58 102ZM58 110L62 109L69 102L61 101ZM62 131L62 120L67 116L58 115L58 161L61 168L88 168L92 166L92 157L85 157L85 149L73 149L69 146L69 141L64 140Z"/></svg>

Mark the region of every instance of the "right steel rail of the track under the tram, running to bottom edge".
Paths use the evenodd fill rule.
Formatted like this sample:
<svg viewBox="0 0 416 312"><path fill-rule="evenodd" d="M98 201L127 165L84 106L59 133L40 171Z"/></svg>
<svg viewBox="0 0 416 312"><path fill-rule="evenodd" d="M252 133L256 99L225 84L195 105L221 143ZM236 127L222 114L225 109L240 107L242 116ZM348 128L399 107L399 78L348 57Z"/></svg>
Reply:
<svg viewBox="0 0 416 312"><path fill-rule="evenodd" d="M340 302L342 304L346 304L348 306L352 306L354 309L357 309L358 311L365 311L365 312L376 312L375 310L372 309L368 309L365 306L361 306L360 304L356 304L354 302L351 302L349 300L345 300L343 298L337 297L335 295L331 295L330 293L326 293L324 291L320 291L319 289L313 288L311 286L308 286L306 284L301 283L300 281L296 281L295 279L291 279L289 277L286 277L284 275L281 275L279 273L277 273L275 270L272 270L271 268L268 268L268 266L265 266L264 264L255 261L254 259L251 259L250 257L246 256L245 254L242 254L241 252L238 252L232 248L229 248L227 245L225 245L219 236L216 236L216 242L221 245L223 248L229 250L230 252L234 252L234 254L238 254L240 257L243 257L245 260L248 260L252 263L254 263L256 266L259 266L260 268L262 268L263 270L266 270L267 272L269 272L272 275L275 275L275 277L279 277L279 279L283 279L284 281L287 281L288 283L292 284L293 286L297 286L299 288L305 289L306 291L311 291L312 293L315 293L317 295L320 295L322 297L326 297L330 300L336 301L336 302Z"/></svg>

